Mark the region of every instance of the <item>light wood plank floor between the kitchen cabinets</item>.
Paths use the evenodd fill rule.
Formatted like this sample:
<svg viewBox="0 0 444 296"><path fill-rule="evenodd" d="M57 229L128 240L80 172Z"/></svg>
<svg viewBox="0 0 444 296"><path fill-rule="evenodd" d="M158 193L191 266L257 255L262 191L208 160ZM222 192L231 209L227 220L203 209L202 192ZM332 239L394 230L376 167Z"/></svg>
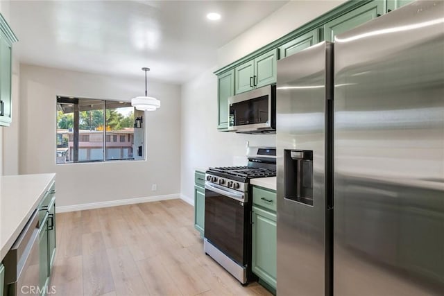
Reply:
<svg viewBox="0 0 444 296"><path fill-rule="evenodd" d="M203 252L182 200L56 215L56 295L271 295ZM49 289L51 291L51 289Z"/></svg>

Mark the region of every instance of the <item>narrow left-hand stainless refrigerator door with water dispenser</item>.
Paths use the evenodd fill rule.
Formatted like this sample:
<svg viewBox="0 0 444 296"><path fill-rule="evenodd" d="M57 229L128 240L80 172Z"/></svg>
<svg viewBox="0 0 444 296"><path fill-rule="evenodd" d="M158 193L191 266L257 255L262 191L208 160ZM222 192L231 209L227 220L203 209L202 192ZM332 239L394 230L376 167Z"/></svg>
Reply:
<svg viewBox="0 0 444 296"><path fill-rule="evenodd" d="M325 87L332 44L278 61L278 293L325 295Z"/></svg>

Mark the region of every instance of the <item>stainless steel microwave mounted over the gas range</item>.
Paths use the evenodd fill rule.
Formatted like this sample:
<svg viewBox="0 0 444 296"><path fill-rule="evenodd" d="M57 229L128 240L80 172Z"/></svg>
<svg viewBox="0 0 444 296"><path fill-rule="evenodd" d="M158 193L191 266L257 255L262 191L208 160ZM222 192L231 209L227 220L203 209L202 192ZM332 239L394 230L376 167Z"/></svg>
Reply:
<svg viewBox="0 0 444 296"><path fill-rule="evenodd" d="M276 131L276 86L267 85L228 98L228 130L248 134Z"/></svg>

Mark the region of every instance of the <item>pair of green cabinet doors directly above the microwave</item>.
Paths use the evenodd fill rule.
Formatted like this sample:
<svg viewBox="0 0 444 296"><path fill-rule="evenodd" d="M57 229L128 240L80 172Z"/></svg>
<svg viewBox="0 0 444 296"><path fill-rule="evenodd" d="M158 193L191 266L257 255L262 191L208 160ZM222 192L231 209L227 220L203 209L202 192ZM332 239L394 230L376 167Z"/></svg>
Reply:
<svg viewBox="0 0 444 296"><path fill-rule="evenodd" d="M234 68L234 94L248 92L256 87L263 87L276 82L276 61L278 49L259 55L254 60Z"/></svg>

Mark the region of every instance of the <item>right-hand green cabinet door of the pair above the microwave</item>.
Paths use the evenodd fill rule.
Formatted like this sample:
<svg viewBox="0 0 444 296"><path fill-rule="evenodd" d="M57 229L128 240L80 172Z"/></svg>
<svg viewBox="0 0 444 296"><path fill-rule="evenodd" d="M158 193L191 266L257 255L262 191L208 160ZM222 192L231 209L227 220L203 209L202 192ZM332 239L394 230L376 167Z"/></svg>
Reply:
<svg viewBox="0 0 444 296"><path fill-rule="evenodd" d="M268 51L268 53L255 58L255 75L253 76L253 85L255 87L263 87L276 82L277 61L278 49L273 49L273 51Z"/></svg>

